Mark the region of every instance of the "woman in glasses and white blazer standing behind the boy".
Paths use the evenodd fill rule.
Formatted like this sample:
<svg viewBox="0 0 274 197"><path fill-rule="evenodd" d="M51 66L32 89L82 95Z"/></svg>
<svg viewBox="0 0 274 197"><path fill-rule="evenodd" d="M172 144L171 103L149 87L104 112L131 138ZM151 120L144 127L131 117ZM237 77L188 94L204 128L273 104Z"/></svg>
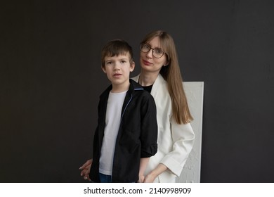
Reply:
<svg viewBox="0 0 274 197"><path fill-rule="evenodd" d="M158 151L150 158L143 182L175 182L195 134L172 37L163 31L150 32L141 42L140 63L141 73L133 80L154 97L158 124ZM91 162L80 167L84 179L89 179Z"/></svg>

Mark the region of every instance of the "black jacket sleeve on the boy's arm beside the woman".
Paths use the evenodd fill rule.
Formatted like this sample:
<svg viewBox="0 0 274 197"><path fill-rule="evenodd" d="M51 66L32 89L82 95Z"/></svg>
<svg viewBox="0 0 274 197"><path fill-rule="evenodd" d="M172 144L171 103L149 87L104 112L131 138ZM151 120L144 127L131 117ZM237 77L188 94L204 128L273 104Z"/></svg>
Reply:
<svg viewBox="0 0 274 197"><path fill-rule="evenodd" d="M146 94L141 107L141 158L157 153L157 114L154 98Z"/></svg>

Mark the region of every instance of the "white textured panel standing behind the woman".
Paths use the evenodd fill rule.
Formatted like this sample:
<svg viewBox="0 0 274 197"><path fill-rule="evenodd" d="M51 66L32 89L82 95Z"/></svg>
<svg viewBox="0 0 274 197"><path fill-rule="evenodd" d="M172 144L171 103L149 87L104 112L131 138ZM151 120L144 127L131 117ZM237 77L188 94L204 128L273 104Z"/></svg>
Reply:
<svg viewBox="0 0 274 197"><path fill-rule="evenodd" d="M201 151L202 151L202 108L204 102L204 82L183 82L183 88L188 99L190 113L193 115L191 125L195 132L193 150L183 167L181 176L176 182L200 183Z"/></svg>

